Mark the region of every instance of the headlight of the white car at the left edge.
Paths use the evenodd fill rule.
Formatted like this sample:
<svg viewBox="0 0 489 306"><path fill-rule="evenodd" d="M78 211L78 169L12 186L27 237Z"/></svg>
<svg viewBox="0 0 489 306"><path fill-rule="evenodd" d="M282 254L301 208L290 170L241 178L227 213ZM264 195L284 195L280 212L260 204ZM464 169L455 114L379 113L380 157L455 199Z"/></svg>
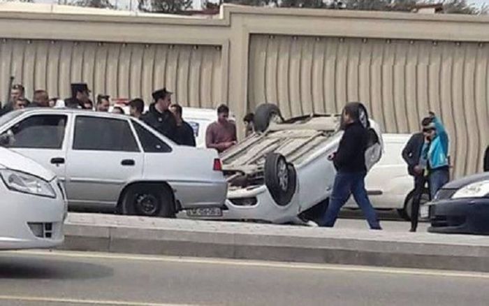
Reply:
<svg viewBox="0 0 489 306"><path fill-rule="evenodd" d="M2 169L0 170L0 176L6 184L6 187L10 190L19 191L24 194L34 194L35 196L56 198L56 193L50 183L34 175Z"/></svg>

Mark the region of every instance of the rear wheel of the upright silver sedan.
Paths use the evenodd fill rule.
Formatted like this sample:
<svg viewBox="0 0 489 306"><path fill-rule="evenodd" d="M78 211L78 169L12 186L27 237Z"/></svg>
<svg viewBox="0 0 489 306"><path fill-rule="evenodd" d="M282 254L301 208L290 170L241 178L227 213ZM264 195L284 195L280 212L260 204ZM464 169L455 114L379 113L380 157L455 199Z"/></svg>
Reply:
<svg viewBox="0 0 489 306"><path fill-rule="evenodd" d="M145 217L175 217L173 194L161 184L135 184L122 196L121 213Z"/></svg>

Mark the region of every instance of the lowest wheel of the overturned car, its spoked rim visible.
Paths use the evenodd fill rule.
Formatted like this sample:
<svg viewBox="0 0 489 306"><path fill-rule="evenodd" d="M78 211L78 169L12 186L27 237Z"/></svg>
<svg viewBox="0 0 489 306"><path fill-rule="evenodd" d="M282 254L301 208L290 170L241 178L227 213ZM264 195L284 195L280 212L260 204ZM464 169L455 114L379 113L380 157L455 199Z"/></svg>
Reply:
<svg viewBox="0 0 489 306"><path fill-rule="evenodd" d="M295 194L297 173L282 154L271 153L265 158L265 185L273 200L280 206L291 203Z"/></svg>

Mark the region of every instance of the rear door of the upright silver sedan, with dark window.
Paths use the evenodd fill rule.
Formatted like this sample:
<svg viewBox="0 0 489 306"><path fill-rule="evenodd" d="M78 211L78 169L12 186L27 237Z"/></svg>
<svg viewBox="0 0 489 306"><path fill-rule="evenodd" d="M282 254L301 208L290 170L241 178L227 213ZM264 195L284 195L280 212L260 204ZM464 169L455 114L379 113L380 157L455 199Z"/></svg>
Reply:
<svg viewBox="0 0 489 306"><path fill-rule="evenodd" d="M143 173L143 153L129 119L76 115L68 148L66 194L71 205L112 207Z"/></svg>

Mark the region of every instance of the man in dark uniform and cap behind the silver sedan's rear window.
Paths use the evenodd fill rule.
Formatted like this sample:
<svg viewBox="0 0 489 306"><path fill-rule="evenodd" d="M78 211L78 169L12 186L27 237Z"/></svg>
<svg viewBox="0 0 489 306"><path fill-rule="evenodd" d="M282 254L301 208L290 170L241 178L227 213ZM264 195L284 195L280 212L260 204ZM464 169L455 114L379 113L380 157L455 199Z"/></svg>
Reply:
<svg viewBox="0 0 489 306"><path fill-rule="evenodd" d="M143 122L159 131L170 140L178 143L177 140L177 120L169 108L171 105L171 92L166 88L153 92L154 103L149 106L149 110L140 117Z"/></svg>

